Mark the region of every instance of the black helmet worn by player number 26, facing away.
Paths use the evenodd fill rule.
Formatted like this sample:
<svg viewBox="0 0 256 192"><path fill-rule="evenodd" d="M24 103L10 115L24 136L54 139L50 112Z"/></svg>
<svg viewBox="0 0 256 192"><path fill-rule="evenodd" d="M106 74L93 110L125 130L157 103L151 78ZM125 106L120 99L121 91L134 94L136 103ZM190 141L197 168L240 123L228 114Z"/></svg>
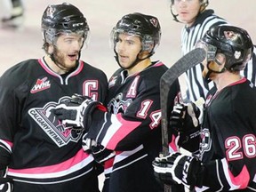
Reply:
<svg viewBox="0 0 256 192"><path fill-rule="evenodd" d="M215 59L217 53L226 57L225 68L229 71L243 70L252 58L252 39L243 28L235 26L215 26L210 28L196 44L207 47L207 61Z"/></svg>

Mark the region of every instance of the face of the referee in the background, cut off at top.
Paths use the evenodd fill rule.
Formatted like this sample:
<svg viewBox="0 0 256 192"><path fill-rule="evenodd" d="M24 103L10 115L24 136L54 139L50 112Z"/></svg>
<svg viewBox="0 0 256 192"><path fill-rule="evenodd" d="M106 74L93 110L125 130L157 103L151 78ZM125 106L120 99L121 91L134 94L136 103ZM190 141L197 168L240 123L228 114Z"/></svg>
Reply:
<svg viewBox="0 0 256 192"><path fill-rule="evenodd" d="M200 10L200 2L199 0L174 0L174 9L179 15L179 20L191 26Z"/></svg>

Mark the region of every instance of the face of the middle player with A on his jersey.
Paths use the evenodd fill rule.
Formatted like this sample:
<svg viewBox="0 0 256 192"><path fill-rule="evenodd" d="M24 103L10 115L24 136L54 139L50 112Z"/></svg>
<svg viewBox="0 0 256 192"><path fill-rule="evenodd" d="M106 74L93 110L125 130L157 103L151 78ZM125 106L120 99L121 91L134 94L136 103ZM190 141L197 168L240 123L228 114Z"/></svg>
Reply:
<svg viewBox="0 0 256 192"><path fill-rule="evenodd" d="M119 64L122 68L129 68L137 59L141 51L141 41L139 36L119 34L116 39L116 52Z"/></svg>

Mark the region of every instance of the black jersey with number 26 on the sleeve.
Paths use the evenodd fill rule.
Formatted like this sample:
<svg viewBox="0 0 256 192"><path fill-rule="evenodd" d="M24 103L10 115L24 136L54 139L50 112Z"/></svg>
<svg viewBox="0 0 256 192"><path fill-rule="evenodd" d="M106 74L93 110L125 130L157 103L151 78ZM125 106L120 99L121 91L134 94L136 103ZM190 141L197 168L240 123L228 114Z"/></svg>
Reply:
<svg viewBox="0 0 256 192"><path fill-rule="evenodd" d="M256 191L256 88L243 78L209 95L206 105L204 186L196 191Z"/></svg>

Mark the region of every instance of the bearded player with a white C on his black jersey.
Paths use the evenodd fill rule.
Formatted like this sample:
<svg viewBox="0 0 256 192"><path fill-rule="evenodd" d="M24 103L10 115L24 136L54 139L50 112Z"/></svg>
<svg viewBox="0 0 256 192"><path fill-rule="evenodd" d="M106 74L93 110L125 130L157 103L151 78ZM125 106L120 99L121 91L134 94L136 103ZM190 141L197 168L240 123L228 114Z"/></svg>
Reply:
<svg viewBox="0 0 256 192"><path fill-rule="evenodd" d="M1 191L12 183L14 192L100 191L93 157L82 149L84 130L60 124L52 110L74 92L106 98L107 76L80 60L89 26L76 6L51 4L42 32L45 56L22 61L0 78L0 169L8 167L12 181Z"/></svg>

